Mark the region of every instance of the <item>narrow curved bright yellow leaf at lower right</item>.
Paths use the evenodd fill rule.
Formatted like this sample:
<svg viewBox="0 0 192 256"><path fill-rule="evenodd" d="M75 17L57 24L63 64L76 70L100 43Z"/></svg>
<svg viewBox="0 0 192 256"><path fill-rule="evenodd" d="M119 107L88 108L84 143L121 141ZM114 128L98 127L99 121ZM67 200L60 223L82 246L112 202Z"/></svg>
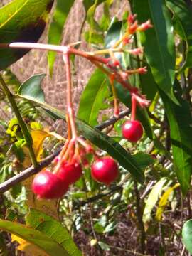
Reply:
<svg viewBox="0 0 192 256"><path fill-rule="evenodd" d="M161 221L162 218L162 213L164 212L164 208L167 205L168 198L171 194L172 191L174 191L175 188L178 188L180 186L179 183L176 183L174 186L171 188L168 188L164 194L161 196L161 199L159 201L159 206L156 210L156 220Z"/></svg>

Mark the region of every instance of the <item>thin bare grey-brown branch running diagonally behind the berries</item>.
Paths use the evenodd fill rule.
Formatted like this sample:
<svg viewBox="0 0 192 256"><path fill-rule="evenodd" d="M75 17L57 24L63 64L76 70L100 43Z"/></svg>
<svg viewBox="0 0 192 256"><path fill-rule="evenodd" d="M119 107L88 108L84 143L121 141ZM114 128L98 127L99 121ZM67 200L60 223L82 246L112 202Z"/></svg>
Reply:
<svg viewBox="0 0 192 256"><path fill-rule="evenodd" d="M123 117L127 116L127 114L130 113L130 110L123 111L119 114L119 117L112 117L108 119L107 121L103 122L102 124L97 125L97 129L105 129L106 127L110 126L111 124L114 124L119 119L122 119ZM5 191L8 191L10 188L12 188L17 183L20 183L21 181L25 181L27 178L33 176L33 174L37 174L38 171L41 171L44 167L48 166L51 161L55 158L55 156L58 156L60 153L60 150L56 151L54 154L51 154L46 159L43 159L43 161L38 163L38 166L33 167L31 166L28 169L25 169L20 174L16 174L14 177L9 178L9 180L4 181L0 184L0 194L4 193ZM99 196L99 195L98 195Z"/></svg>

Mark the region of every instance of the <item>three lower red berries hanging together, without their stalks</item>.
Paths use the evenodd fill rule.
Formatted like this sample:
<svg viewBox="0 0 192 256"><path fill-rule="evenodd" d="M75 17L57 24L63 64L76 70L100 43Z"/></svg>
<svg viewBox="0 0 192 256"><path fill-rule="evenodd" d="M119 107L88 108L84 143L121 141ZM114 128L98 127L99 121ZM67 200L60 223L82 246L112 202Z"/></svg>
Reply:
<svg viewBox="0 0 192 256"><path fill-rule="evenodd" d="M97 159L91 168L92 178L95 181L109 185L118 176L118 165L110 156ZM38 198L60 198L67 191L71 184L75 183L82 176L82 167L76 161L73 164L65 162L60 166L57 173L41 171L33 179L32 189Z"/></svg>

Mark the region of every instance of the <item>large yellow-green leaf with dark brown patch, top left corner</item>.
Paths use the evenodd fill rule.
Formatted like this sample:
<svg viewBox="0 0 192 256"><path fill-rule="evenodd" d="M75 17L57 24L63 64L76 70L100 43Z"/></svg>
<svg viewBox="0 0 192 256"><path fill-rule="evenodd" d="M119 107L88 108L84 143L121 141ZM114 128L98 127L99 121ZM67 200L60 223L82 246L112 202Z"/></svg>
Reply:
<svg viewBox="0 0 192 256"><path fill-rule="evenodd" d="M53 0L14 0L0 9L0 43L33 42L40 38ZM0 49L0 70L16 62L28 50Z"/></svg>

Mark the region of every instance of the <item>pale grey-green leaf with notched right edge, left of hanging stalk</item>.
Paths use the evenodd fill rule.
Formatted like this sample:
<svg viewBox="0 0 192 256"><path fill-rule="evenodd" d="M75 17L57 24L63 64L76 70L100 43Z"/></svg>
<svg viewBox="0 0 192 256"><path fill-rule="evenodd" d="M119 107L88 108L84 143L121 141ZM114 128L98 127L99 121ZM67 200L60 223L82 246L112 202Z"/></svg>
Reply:
<svg viewBox="0 0 192 256"><path fill-rule="evenodd" d="M31 78L28 78L28 80L23 82L18 88L18 95L29 100L35 98L40 102L44 102L43 90L40 86L44 77L45 74L32 75Z"/></svg>

